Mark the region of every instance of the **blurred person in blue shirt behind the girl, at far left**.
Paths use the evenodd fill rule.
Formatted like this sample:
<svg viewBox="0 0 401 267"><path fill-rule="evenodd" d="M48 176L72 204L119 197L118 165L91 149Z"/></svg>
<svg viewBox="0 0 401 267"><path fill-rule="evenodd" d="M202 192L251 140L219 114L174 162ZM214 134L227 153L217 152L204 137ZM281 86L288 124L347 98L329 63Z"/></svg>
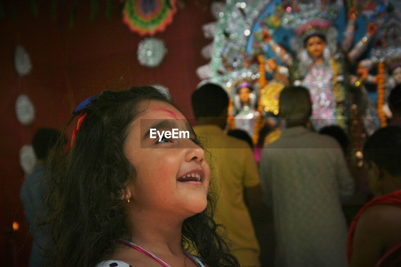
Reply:
<svg viewBox="0 0 401 267"><path fill-rule="evenodd" d="M45 178L47 175L46 160L57 140L62 136L63 134L56 129L40 128L32 139L36 165L33 172L25 177L20 191L25 218L33 238L29 261L30 267L43 266L45 261L49 237L48 228L43 225L48 218L46 197L49 187ZM67 138L63 136L63 139L64 143L66 143Z"/></svg>

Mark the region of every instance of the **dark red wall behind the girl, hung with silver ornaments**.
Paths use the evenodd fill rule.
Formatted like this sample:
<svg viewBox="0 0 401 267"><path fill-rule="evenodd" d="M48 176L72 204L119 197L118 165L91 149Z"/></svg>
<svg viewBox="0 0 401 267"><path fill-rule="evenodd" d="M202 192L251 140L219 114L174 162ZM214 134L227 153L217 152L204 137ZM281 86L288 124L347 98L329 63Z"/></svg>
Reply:
<svg viewBox="0 0 401 267"><path fill-rule="evenodd" d="M150 69L138 63L136 51L144 37L122 22L117 14L119 1L114 3L113 18L107 20L106 1L99 0L95 22L89 21L89 1L80 3L72 28L72 0L56 1L55 20L50 15L50 0L36 1L40 4L37 18L31 12L30 1L13 2L16 21L10 3L5 3L6 18L0 20L0 262L10 256L6 254L4 231L10 230L15 220L20 230L12 235L14 265L27 266L31 239L18 196L24 178L18 158L20 148L30 144L39 127L61 128L80 101L103 89L162 84L169 88L184 114L192 117L190 94L200 81L195 70L207 63L200 51L210 42L203 37L201 26L214 19L211 0L185 1L172 24L155 35L164 40L168 53L159 67ZM17 44L25 47L33 65L25 77L18 77L14 70ZM15 115L15 100L22 93L30 97L36 111L35 121L29 126L20 125Z"/></svg>

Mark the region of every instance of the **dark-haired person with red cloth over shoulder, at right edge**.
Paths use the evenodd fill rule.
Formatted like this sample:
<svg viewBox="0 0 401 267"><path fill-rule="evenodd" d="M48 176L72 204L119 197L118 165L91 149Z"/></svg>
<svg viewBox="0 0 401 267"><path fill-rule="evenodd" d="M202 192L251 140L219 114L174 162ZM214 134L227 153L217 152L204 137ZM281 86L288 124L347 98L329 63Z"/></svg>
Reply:
<svg viewBox="0 0 401 267"><path fill-rule="evenodd" d="M377 130L363 149L375 198L358 212L348 234L348 261L356 266L401 265L401 127Z"/></svg>

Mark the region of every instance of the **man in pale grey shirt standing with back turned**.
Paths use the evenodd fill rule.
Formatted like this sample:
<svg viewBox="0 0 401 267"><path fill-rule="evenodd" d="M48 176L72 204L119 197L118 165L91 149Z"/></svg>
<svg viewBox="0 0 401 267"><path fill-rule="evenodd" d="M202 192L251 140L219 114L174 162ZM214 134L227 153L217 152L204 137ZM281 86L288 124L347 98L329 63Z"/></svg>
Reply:
<svg viewBox="0 0 401 267"><path fill-rule="evenodd" d="M347 225L341 203L354 192L342 150L329 136L310 131L308 89L285 88L279 115L282 136L263 149L260 172L273 208L275 265L347 266Z"/></svg>

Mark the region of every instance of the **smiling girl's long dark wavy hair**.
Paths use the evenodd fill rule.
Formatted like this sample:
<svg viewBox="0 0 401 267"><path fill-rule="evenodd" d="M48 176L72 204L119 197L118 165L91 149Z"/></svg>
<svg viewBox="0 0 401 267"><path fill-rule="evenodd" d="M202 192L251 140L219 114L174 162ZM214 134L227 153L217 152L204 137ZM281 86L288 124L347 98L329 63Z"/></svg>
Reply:
<svg viewBox="0 0 401 267"><path fill-rule="evenodd" d="M124 155L124 143L130 124L146 109L140 104L150 100L170 103L153 87L103 91L86 109L71 150L64 154L60 142L51 155L50 266L94 266L113 255L117 238L131 240L120 196L135 181L136 170ZM239 266L225 242L225 228L213 220L215 194L209 192L207 200L203 212L184 220L182 248L210 266Z"/></svg>

